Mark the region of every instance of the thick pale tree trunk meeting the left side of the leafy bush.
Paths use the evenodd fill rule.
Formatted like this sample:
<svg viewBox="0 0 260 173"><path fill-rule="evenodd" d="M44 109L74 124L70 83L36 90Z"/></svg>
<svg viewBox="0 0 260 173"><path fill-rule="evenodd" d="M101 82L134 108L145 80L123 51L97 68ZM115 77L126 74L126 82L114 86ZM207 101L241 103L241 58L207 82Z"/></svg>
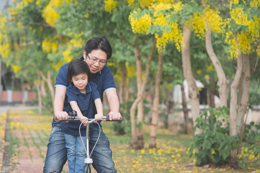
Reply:
<svg viewBox="0 0 260 173"><path fill-rule="evenodd" d="M190 35L191 30L183 24L183 38L184 38L184 48L181 50L182 64L183 64L183 74L184 78L188 82L189 86L189 97L191 103L191 114L192 121L195 127L195 120L199 117L200 108L199 108L199 97L198 87L193 78L191 62L190 62ZM195 135L201 133L199 129L195 130Z"/></svg>

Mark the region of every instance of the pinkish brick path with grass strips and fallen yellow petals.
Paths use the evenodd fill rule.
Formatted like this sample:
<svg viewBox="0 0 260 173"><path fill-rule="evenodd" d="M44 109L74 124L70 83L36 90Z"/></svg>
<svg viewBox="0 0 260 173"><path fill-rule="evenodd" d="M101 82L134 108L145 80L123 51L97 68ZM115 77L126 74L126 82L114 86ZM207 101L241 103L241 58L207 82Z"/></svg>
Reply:
<svg viewBox="0 0 260 173"><path fill-rule="evenodd" d="M0 113L0 117L3 117ZM1 173L39 173L43 171L45 155L49 134L51 132L50 115L39 116L38 112L30 110L10 110L8 111L10 119L10 156L9 166L2 167L4 160L3 146L4 141L0 136L0 169ZM3 125L0 124L3 130ZM2 134L2 132L1 132ZM8 165L8 164L7 164ZM63 172L68 170L64 166Z"/></svg>

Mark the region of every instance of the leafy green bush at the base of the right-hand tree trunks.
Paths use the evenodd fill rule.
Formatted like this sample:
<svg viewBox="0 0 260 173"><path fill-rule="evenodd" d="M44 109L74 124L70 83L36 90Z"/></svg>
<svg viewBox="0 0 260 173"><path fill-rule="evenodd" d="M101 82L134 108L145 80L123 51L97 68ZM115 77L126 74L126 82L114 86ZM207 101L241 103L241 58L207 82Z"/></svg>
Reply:
<svg viewBox="0 0 260 173"><path fill-rule="evenodd" d="M210 108L209 112L215 114L216 117L226 116L228 108L222 107L218 110ZM235 136L229 136L229 126L223 128L216 117L208 116L208 112L204 111L196 119L195 128L200 129L202 133L194 136L194 142L189 151L190 157L195 155L196 165L223 164L227 161L232 149L239 144Z"/></svg>

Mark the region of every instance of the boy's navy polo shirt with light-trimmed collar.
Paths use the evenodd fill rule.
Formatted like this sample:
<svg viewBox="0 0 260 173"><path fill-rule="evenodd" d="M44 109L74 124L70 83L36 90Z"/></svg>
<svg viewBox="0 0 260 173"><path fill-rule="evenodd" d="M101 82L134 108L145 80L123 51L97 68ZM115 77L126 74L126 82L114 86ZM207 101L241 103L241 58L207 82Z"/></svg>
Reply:
<svg viewBox="0 0 260 173"><path fill-rule="evenodd" d="M88 119L92 119L93 117L93 104L94 100L99 99L100 95L97 91L97 86L93 82L88 82L86 86L86 93L81 93L77 87L74 85L69 85L66 90L66 95L68 97L68 106L66 112L69 113L72 110L70 106L70 101L76 101L77 105L83 116L86 116ZM79 125L81 121L72 121L69 123L61 123L62 131L64 133L79 136ZM90 124L90 133L93 128L93 124ZM80 127L81 136L86 136L86 126L81 125Z"/></svg>

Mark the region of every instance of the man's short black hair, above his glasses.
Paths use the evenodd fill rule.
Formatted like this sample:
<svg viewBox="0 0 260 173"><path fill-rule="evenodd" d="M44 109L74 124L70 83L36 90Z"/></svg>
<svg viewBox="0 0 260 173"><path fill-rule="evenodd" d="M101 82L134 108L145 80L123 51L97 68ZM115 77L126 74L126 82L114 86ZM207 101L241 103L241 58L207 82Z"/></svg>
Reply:
<svg viewBox="0 0 260 173"><path fill-rule="evenodd" d="M84 50L89 54L92 50L102 50L107 54L107 60L112 56L112 47L105 36L94 37L86 43Z"/></svg>

